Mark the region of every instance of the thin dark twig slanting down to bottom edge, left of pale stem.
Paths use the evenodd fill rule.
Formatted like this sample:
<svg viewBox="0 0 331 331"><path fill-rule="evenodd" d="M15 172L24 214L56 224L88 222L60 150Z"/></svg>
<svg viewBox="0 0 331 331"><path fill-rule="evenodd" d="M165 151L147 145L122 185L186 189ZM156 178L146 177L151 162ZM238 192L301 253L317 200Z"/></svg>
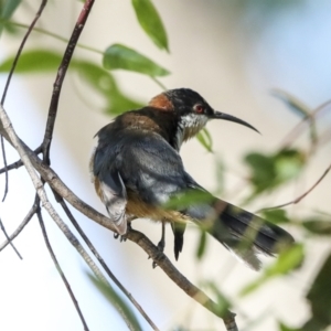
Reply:
<svg viewBox="0 0 331 331"><path fill-rule="evenodd" d="M56 267L56 270L58 271L58 274L60 274L60 276L61 276L61 278L62 278L62 280L63 280L63 282L64 282L64 285L65 285L65 287L66 287L66 289L67 289L67 291L68 291L68 293L71 296L71 298L72 298L72 301L73 301L73 303L74 303L74 306L75 306L75 308L77 310L77 313L78 313L78 316L81 318L81 321L83 323L84 330L85 331L89 331L89 329L87 327L87 323L85 321L85 318L83 316L83 312L82 312L82 310L79 308L79 303L78 303L78 301L77 301L77 299L76 299L76 297L75 297L75 295L74 295L74 292L73 292L73 290L71 288L71 285L67 281L67 279L66 279L66 277L65 277L65 275L64 275L64 273L63 273L63 270L62 270L62 268L61 268L61 266L60 266L60 264L57 261L57 258L56 258L56 256L55 256L55 254L53 252L53 248L52 248L52 245L50 243L50 239L49 239L49 236L47 236L47 232L46 232L46 228L45 228L45 225L44 225L43 216L42 216L41 209L40 209L40 199L39 199L38 195L35 196L35 200L36 200L35 204L39 205L39 207L36 210L36 215L38 215L39 224L40 224L40 227L42 229L42 234L43 234L46 247L47 247L47 249L50 252L50 255L51 255L52 260L53 260L53 263L54 263L54 265Z"/></svg>

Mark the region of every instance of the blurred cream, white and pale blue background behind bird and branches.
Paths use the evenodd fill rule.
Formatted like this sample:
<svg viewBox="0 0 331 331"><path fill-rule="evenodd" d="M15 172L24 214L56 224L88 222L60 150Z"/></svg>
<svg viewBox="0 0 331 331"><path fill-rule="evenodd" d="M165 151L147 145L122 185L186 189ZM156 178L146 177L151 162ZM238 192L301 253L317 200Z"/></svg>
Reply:
<svg viewBox="0 0 331 331"><path fill-rule="evenodd" d="M4 2L0 2L4 3ZM207 125L213 153L196 139L183 146L181 156L188 172L218 196L243 205L252 192L249 169L243 162L247 152L273 153L302 117L273 96L277 88L295 96L310 109L330 99L331 90L331 3L327 0L169 0L153 1L164 23L170 53L158 50L140 29L130 1L95 2L79 40L81 44L104 52L122 43L168 68L171 75L159 78L167 88L190 87L212 107L232 114L255 126L261 135L229 122ZM23 1L12 21L30 24L40 1ZM38 26L70 38L81 11L79 1L50 1ZM15 53L25 32L12 26L0 40L0 61ZM64 52L66 43L33 32L26 50ZM77 47L74 58L102 65L102 55ZM0 88L7 74L1 74ZM150 77L125 71L114 72L119 88L137 103L146 104L162 92ZM42 141L55 73L14 75L4 108L18 135L31 148ZM105 207L89 181L88 162L95 146L94 135L111 119L105 100L82 81L78 72L68 72L63 85L52 146L52 168L85 202L102 213ZM319 113L320 131L330 130L330 107ZM109 113L109 111L108 111ZM307 149L306 130L293 147ZM8 145L7 145L8 146ZM330 164L330 143L317 149L302 175L270 194L255 199L246 209L254 212L291 201L307 191ZM8 146L8 162L18 159ZM220 177L220 170L222 175ZM287 207L291 220L320 210L331 214L331 179L327 177L298 205ZM4 175L0 177L0 188ZM34 190L24 169L9 174L9 195L0 213L8 233L12 233L30 210ZM49 192L50 197L52 196ZM2 193L0 193L1 195ZM161 330L224 330L223 322L195 305L137 245L119 243L113 233L73 210L103 258L125 287L145 308ZM126 330L116 310L96 291L86 276L87 268L53 221L44 213L50 241L76 295L90 330ZM158 243L161 226L146 220L134 227ZM169 226L168 226L169 227ZM279 330L278 322L301 325L310 316L306 292L330 250L330 238L302 232L288 225L298 242L306 244L302 267L276 278L254 293L242 298L239 291L259 275L237 261L212 238L202 260L196 258L200 233L190 226L179 261L172 253L172 234L167 229L166 254L175 267L195 285L214 282L233 302L239 330ZM1 242L4 236L0 233ZM14 241L23 260L7 247L0 254L1 330L82 330L67 291L45 248L36 218ZM265 259L266 265L273 263ZM328 289L330 290L330 289ZM149 325L140 319L145 330Z"/></svg>

